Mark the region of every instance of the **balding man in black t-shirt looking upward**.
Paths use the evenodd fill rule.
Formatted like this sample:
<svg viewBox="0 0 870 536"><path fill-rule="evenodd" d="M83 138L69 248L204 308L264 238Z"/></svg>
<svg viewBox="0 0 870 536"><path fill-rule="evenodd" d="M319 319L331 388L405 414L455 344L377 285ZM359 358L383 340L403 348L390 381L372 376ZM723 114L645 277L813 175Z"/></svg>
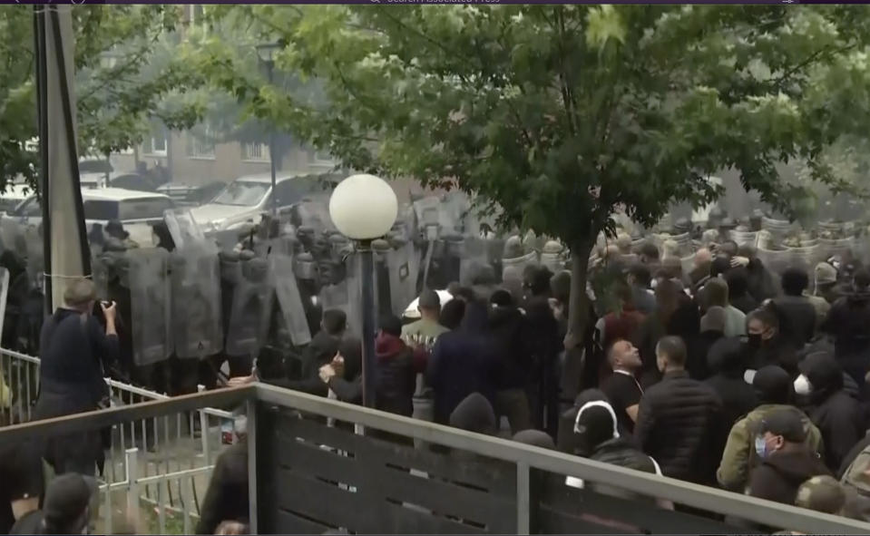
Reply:
<svg viewBox="0 0 870 536"><path fill-rule="evenodd" d="M613 374L601 384L601 391L613 406L623 434L634 432L643 391L636 378L640 370L640 354L629 341L618 340L607 353Z"/></svg>

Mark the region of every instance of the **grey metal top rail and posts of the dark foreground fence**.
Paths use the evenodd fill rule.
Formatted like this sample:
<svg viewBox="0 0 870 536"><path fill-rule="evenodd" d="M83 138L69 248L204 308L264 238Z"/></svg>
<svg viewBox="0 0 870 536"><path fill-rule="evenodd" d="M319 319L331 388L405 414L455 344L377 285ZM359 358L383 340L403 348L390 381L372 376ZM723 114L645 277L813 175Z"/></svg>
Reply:
<svg viewBox="0 0 870 536"><path fill-rule="evenodd" d="M16 424L0 430L0 441L21 440L34 435L71 434L83 430L100 429L107 425L159 418L166 414L181 414L205 406L231 407L242 403L246 404L248 415L249 504L250 512L255 512L251 515L250 520L252 533L257 533L259 521L258 481L260 478L269 478L270 473L276 469L259 467L258 465L258 455L262 448L259 444L259 436L262 434L263 441L268 441L269 434L272 432L269 428L259 430L258 415L259 412L275 406L291 408L302 414L315 414L339 422L374 428L390 434L404 435L425 443L437 443L453 450L512 463L515 468L516 482L516 496L515 502L513 502L516 505L515 527L519 534L528 534L533 529L531 521L531 512L533 512L534 506L534 494L531 490L533 480L531 471L533 470L572 476L582 479L584 482L603 484L610 488L640 493L718 515L735 516L741 520L766 526L782 527L785 525L790 530L806 533L870 533L870 524L865 522L806 511L794 506L767 502L650 473L639 473L566 453L547 451L522 443L468 433L439 424L385 414L364 407L262 384L221 389L198 395L183 395L168 400L113 407L88 414L34 423ZM263 414L264 418L265 415ZM360 441L368 439L367 437L360 438ZM264 443L263 446L268 445ZM144 479L130 481L128 485L140 485L142 482L145 482ZM267 502L267 499L268 497L264 496L263 502ZM259 506L262 508L263 505ZM577 508L579 509L581 506L578 505ZM666 514L667 511L662 511L663 516ZM667 521L666 517L665 520ZM371 521L370 517L369 521ZM264 526L263 529L270 530L267 526Z"/></svg>

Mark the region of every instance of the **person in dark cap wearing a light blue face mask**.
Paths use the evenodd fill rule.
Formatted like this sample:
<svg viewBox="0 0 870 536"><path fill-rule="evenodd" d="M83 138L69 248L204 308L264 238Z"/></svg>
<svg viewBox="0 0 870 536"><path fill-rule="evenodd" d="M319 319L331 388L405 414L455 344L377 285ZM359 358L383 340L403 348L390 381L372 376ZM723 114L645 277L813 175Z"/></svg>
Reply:
<svg viewBox="0 0 870 536"><path fill-rule="evenodd" d="M830 475L825 463L806 448L806 430L795 412L768 414L755 438L761 464L749 475L749 495L794 504L800 486L819 475Z"/></svg>

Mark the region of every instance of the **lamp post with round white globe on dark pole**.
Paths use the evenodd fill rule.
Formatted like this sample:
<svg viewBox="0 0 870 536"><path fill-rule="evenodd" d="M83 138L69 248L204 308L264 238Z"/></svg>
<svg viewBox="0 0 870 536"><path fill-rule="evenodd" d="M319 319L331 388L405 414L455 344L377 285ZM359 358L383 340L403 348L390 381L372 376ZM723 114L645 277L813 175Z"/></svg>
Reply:
<svg viewBox="0 0 870 536"><path fill-rule="evenodd" d="M329 217L336 229L357 242L362 256L363 404L375 406L375 294L372 240L386 235L396 222L398 201L386 181L374 175L352 175L338 183L329 198Z"/></svg>

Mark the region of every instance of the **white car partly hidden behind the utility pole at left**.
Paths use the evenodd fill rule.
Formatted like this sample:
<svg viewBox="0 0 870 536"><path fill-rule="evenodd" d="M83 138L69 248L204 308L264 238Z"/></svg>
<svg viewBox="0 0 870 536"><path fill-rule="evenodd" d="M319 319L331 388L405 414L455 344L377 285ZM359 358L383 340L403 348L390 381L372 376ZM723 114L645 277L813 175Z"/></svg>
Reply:
<svg viewBox="0 0 870 536"><path fill-rule="evenodd" d="M119 219L124 230L130 233L130 239L142 247L153 245L152 224L163 220L165 210L175 208L169 196L121 188L83 189L82 204L88 232L94 223L105 228L109 220ZM22 225L39 225L43 212L33 196L24 201L10 218Z"/></svg>

